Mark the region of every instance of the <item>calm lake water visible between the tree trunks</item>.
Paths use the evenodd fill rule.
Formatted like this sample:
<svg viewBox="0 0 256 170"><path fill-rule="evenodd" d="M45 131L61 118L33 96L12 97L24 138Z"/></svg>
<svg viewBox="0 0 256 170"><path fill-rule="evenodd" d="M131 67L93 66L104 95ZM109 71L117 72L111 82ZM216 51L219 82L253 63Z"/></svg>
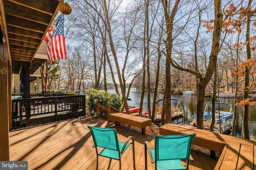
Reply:
<svg viewBox="0 0 256 170"><path fill-rule="evenodd" d="M112 92L112 90L110 90L109 92ZM114 91L113 91L114 92ZM136 105L139 106L140 103L140 96L141 96L141 92L130 92L129 98L132 99L132 102ZM153 104L153 97L154 94L150 93L150 97L151 97L151 109L152 109L152 104ZM158 99L162 99L164 98L164 94L163 93L158 93L157 94L157 100ZM178 123L180 125L182 124L189 124L192 120L191 117L192 115L196 114L196 96L189 96L189 95L182 95L182 96L176 96L176 95L172 95L172 99L178 99L180 100L181 106L183 107L184 110L184 121L182 120L178 120ZM204 106L206 106L206 104L208 102L211 102L211 98L204 98ZM232 104L234 106L234 99L224 99L221 98L220 102L225 102L225 103L229 103ZM176 107L177 102L172 102L172 107ZM162 106L162 102L158 102L158 104L156 105L156 107L160 107ZM143 102L143 111L147 111L147 93L145 92L144 95L144 102ZM225 110L225 111L229 111ZM234 107L233 110L234 111ZM237 122L237 126L236 126L236 133L238 136L240 136L241 134L241 126L242 126L242 107L238 107L238 122ZM256 108L251 107L249 110L249 129L252 129L253 133L256 135Z"/></svg>

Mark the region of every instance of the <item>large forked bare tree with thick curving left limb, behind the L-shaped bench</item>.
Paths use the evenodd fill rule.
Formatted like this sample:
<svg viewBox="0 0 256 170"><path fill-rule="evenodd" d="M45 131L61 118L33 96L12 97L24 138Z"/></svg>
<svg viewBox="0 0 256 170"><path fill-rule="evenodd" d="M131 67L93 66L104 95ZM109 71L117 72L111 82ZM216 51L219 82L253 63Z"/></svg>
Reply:
<svg viewBox="0 0 256 170"><path fill-rule="evenodd" d="M171 51L172 51L172 29L173 29L173 13L168 11L168 2L163 2L164 6L164 12L166 16L166 27L167 27L167 34L168 37L166 38L166 54L170 60L170 63L174 68L178 68L180 70L190 72L191 74L194 74L198 78L198 84L197 84L197 128L203 129L203 113L204 113L204 94L206 85L210 81L210 78L212 77L212 74L214 72L214 69L216 67L217 63L217 56L219 52L220 47L220 34L222 30L222 23L223 23L223 14L222 14L222 6L221 6L221 0L214 0L214 31L212 35L212 47L211 47L211 53L210 53L210 60L208 63L208 67L206 69L205 74L200 74L197 71L183 68L181 67L176 61L174 61L171 57ZM176 1L177 3L177 1ZM178 4L177 4L178 5ZM166 79L167 83L167 79ZM166 94L167 97L167 94ZM169 96L168 96L169 97ZM166 100L168 102L168 100ZM167 112L168 113L168 112Z"/></svg>

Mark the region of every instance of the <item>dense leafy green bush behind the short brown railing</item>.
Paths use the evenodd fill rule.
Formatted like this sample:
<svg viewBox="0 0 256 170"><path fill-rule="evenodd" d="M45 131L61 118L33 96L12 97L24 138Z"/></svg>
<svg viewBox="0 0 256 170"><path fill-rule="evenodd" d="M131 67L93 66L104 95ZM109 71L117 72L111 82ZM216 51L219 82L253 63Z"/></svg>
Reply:
<svg viewBox="0 0 256 170"><path fill-rule="evenodd" d="M120 111L122 110L122 99L118 94L110 94L109 92L98 91L94 88L87 90L85 94L87 96L86 104L89 107L90 113L96 112L97 103L105 107L107 107L108 104Z"/></svg>

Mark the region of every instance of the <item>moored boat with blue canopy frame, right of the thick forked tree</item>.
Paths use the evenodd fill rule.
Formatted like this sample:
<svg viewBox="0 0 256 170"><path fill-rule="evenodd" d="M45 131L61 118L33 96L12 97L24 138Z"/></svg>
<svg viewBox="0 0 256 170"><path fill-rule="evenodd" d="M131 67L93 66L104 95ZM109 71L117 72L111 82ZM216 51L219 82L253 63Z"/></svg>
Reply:
<svg viewBox="0 0 256 170"><path fill-rule="evenodd" d="M229 107L229 111L216 110L215 111L215 122L214 122L214 132L217 133L227 133L231 130L233 126L233 117L234 112L232 112L232 105L224 102L215 102L215 105L220 107ZM208 111L208 107L212 105L212 102L208 102L204 109L204 128L210 129L210 125L212 123L212 112ZM192 116L191 125L196 126L196 114Z"/></svg>

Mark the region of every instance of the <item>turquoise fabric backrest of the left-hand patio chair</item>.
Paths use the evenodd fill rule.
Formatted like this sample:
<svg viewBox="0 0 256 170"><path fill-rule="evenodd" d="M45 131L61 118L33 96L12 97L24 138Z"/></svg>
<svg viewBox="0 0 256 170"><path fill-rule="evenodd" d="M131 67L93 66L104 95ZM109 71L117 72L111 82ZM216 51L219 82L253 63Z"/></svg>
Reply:
<svg viewBox="0 0 256 170"><path fill-rule="evenodd" d="M95 147L120 151L116 129L88 126L92 132Z"/></svg>

